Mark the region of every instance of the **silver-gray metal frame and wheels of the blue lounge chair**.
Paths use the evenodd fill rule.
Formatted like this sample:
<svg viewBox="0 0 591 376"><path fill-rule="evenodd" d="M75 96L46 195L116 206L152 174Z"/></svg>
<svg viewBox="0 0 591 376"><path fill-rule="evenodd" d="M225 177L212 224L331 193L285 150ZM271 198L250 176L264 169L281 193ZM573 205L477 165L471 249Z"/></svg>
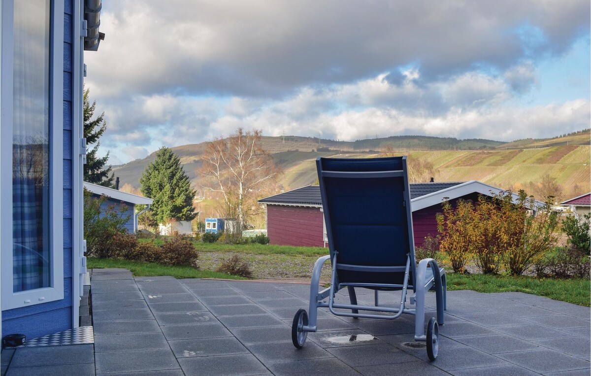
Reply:
<svg viewBox="0 0 591 376"><path fill-rule="evenodd" d="M317 309L319 307L327 307L333 315L336 316L347 316L347 317L368 317L375 319L396 319L403 313L415 316L415 341L427 342L428 355L431 360L437 357L437 346L439 343L439 330L436 328L439 325L444 324L444 310L446 310L446 275L443 268L437 265L437 262L433 258L425 258L418 263L418 267L415 267L415 254L414 254L414 236L413 236L413 223L412 223L412 212L410 205L410 188L408 184L407 174L407 158L401 158L402 170L394 171L324 171L322 167L322 158L317 158L316 165L318 169L318 176L320 182L320 192L322 195L323 204L327 203L327 192L324 186L324 178L339 178L339 179L372 179L372 178L388 178L388 177L402 177L404 179L404 203L406 210L406 217L408 221L408 244L410 249L406 254L406 265L395 265L395 266L365 266L365 265L350 265L339 263L339 251L333 249L333 233L329 212L329 205L323 205L324 220L326 221L326 231L329 239L329 251L330 254L320 257L314 269L312 271L312 278L310 284L310 305L309 305L309 317L302 316L306 314L305 310L301 309L296 313L294 317L293 325L293 341L297 348L301 348L303 343L306 341L307 332L317 331ZM374 158L374 160L385 160L386 158ZM319 289L320 284L320 272L324 262L327 260L332 261L332 276L330 281L330 287L323 290ZM350 271L363 271L371 273L384 273L384 272L398 272L404 271L404 279L402 284L389 284L389 283L340 283L337 276L337 270L350 270ZM409 281L410 275L412 275L412 281ZM350 304L336 303L336 293L347 287L349 293ZM357 303L355 294L355 287L373 289L375 291L375 305L367 306ZM413 289L413 294L410 296L410 305L414 305L414 308L407 308L407 293L408 289ZM398 307L385 307L379 306L378 290L401 290L401 300ZM425 294L428 290L436 291L436 302L437 302L437 320L430 320L427 328L427 335L425 334L424 322L425 322ZM328 302L326 302L328 298ZM336 309L345 309L348 311L337 311ZM359 313L359 310L369 312L384 312L389 315L376 315L374 313ZM303 311L303 313L302 313ZM299 316L299 317L298 317ZM430 326L434 327L430 328ZM431 329L431 332L430 332ZM436 331L433 334L433 330ZM428 336L437 338L428 338ZM430 343L431 341L431 343ZM436 346L433 349L433 346ZM429 351L431 347L431 351ZM434 351L434 354L433 354Z"/></svg>

